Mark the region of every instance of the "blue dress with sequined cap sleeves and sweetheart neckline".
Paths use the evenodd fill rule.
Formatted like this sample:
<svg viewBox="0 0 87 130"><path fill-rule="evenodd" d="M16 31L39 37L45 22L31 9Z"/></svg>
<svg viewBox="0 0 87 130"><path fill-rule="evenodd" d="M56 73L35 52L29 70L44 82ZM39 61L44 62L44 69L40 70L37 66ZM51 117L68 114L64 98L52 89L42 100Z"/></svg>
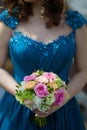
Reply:
<svg viewBox="0 0 87 130"><path fill-rule="evenodd" d="M9 16L7 10L0 15L0 20L13 29L9 52L17 82L22 81L25 75L42 68L44 71L53 71L68 83L70 65L76 52L75 33L77 29L87 24L81 14L68 10L66 24L72 28L72 32L48 44L33 40L16 31L19 21L16 17ZM31 110L20 105L14 96L5 92L0 101L0 130L85 130L75 97L48 116L44 128L35 125L33 117L34 113Z"/></svg>

